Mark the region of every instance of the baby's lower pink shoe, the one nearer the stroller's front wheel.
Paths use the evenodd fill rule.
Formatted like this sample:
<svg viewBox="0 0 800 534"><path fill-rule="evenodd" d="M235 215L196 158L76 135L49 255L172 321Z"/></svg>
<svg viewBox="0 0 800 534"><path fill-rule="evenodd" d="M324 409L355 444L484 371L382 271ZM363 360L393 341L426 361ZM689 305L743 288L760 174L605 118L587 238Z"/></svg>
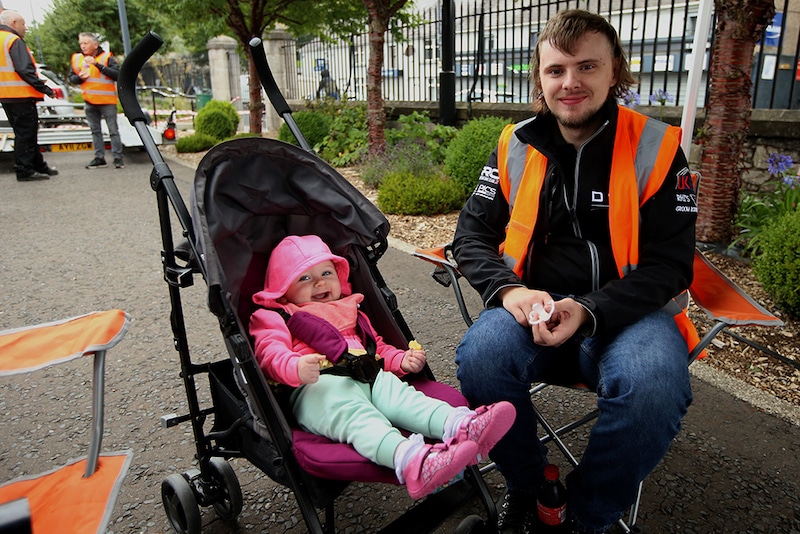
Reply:
<svg viewBox="0 0 800 534"><path fill-rule="evenodd" d="M425 497L452 480L476 454L478 446L471 441L424 445L403 470L408 494L414 500Z"/></svg>

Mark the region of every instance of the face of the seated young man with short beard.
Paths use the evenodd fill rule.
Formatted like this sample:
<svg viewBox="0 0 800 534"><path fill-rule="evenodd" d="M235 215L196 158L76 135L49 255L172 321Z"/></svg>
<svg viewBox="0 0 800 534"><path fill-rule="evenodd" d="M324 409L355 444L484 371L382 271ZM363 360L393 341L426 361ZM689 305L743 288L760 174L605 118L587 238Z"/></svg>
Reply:
<svg viewBox="0 0 800 534"><path fill-rule="evenodd" d="M595 114L617 82L608 39L587 32L577 40L571 54L547 41L542 43L539 55L542 95L562 131L593 126Z"/></svg>

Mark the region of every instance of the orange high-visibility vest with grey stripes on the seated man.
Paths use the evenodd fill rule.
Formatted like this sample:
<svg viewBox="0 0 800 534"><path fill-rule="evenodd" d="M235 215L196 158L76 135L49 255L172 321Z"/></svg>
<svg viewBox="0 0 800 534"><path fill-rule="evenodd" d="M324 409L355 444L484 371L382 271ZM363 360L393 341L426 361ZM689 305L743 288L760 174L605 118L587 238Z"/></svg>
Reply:
<svg viewBox="0 0 800 534"><path fill-rule="evenodd" d="M500 189L508 201L510 219L503 243L503 261L522 277L539 211L547 158L514 132L526 124L508 125L500 135L497 169ZM658 191L667 177L681 141L681 129L651 119L628 108L619 108L611 177L608 217L611 249L620 278L639 264L639 208ZM521 196L520 196L521 195ZM517 202L517 198L526 199ZM683 292L667 304L689 348L699 341L685 311Z"/></svg>

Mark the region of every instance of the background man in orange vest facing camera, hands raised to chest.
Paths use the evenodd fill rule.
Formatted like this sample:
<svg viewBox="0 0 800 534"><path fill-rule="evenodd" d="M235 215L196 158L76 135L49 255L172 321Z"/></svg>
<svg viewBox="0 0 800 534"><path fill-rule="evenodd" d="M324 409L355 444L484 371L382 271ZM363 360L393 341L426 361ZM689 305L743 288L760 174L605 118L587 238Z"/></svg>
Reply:
<svg viewBox="0 0 800 534"><path fill-rule="evenodd" d="M87 169L107 167L106 147L103 142L103 130L100 120L105 119L108 134L111 137L111 155L114 167L125 166L122 160L122 140L117 126L117 78L119 63L111 52L105 52L93 33L82 32L78 35L81 53L72 54L72 72L69 81L81 86L81 95L86 103L84 113L92 129L94 159Z"/></svg>

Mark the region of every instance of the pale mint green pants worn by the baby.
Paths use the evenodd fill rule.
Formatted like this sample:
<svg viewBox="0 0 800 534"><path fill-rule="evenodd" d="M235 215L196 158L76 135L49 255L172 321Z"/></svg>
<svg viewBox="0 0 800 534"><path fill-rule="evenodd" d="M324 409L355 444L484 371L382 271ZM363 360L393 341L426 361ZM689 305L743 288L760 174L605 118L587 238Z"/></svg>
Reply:
<svg viewBox="0 0 800 534"><path fill-rule="evenodd" d="M376 464L395 468L394 452L405 441L397 428L441 440L453 407L420 393L396 375L381 371L369 384L323 374L297 388L292 412L304 430L349 443Z"/></svg>

